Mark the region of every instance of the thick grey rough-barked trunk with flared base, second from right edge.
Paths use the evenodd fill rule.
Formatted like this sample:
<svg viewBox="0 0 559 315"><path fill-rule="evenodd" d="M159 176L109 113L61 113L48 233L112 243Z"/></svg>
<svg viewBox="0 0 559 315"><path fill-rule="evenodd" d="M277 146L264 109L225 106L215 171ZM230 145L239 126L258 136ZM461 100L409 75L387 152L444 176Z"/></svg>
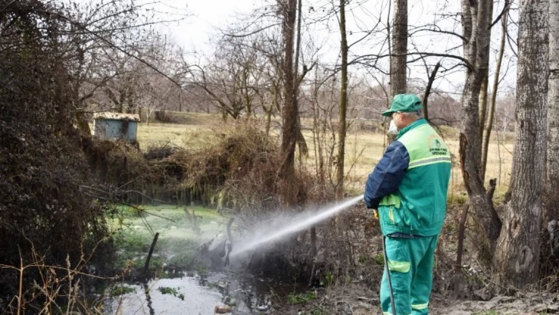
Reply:
<svg viewBox="0 0 559 315"><path fill-rule="evenodd" d="M538 280L542 173L546 152L549 0L521 1L513 170L494 266L501 281L524 288Z"/></svg>

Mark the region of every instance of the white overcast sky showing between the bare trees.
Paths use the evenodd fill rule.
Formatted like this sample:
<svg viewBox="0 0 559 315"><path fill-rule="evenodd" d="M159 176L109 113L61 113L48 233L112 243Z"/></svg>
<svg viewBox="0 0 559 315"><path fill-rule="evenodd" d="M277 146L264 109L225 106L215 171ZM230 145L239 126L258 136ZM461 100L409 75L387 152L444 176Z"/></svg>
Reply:
<svg viewBox="0 0 559 315"><path fill-rule="evenodd" d="M268 0L270 3L272 0ZM370 29L378 19L380 29L386 27L389 20L387 16L387 8L391 0L352 0L348 6L348 41L351 44L363 34L364 29ZM196 50L205 54L211 54L214 47L210 44L210 38L220 36L219 29L223 29L228 25L237 23L239 16L248 16L254 9L263 5L266 0L186 0L183 2L173 0L161 0L157 4L158 11L168 13L184 13L188 12L190 16L179 23L168 23L160 26L160 30L168 32L168 34L181 45L186 51ZM273 1L272 1L273 2ZM338 1L334 1L338 4ZM494 17L496 17L503 7L503 0L495 3ZM307 20L318 17L321 8L331 8L331 0L303 0L304 18ZM311 12L311 7L314 11ZM440 22L440 13L448 13L450 15L458 13L460 10L459 0L423 0L409 1L409 29L414 26L425 25L437 21L437 25L446 30L455 30L461 32L459 18L446 18L444 22ZM513 12L515 14L515 12ZM304 22L305 24L305 22ZM324 62L336 63L339 51L339 33L337 32L337 20L331 18L328 25L304 25L304 32L312 40L318 40L321 50L318 55ZM514 34L514 30L513 30ZM351 53L355 55L371 54L371 53L387 53L386 43L382 43L382 34L377 35L378 40L373 38L368 42L363 42L353 46ZM492 49L497 48L500 39L500 27L497 25L492 30ZM437 53L446 53L449 49L458 46L461 43L458 37L452 35L433 34L429 32L417 32L409 40L408 50L412 51L429 51ZM382 46L382 47L381 47ZM451 50L452 54L462 55L462 49L457 48ZM491 51L491 63L494 64L496 51ZM448 58L430 58L428 64L442 60L443 64L452 65L456 62ZM509 69L508 74L504 78L500 88L500 93L510 92L511 87L515 84L515 62L510 49L505 51L503 68ZM384 60L383 62L388 62ZM427 79L427 72L423 62L409 64L409 78L414 82L421 82ZM462 67L463 69L463 67ZM354 68L353 71L356 69ZM351 69L350 69L351 71ZM490 74L494 73L494 67L491 67ZM501 72L501 77L503 76ZM381 74L379 74L381 75ZM459 93L462 90L464 74L463 72L453 72L451 74L440 75L434 84L435 88L440 90ZM492 82L492 78L490 78Z"/></svg>

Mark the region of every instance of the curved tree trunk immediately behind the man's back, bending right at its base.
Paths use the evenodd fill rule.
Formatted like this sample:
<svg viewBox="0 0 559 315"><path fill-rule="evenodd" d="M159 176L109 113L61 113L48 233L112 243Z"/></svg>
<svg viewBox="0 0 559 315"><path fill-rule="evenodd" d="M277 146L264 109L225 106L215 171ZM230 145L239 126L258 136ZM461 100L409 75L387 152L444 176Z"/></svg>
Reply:
<svg viewBox="0 0 559 315"><path fill-rule="evenodd" d="M470 198L472 212L485 233L485 243L481 252L486 262L491 261L495 242L499 237L501 222L492 200L487 197L481 180L481 135L479 122L479 96L481 85L487 73L490 44L489 25L492 7L490 0L472 2L462 0L462 34L464 36L464 57L470 63L466 72L466 84L462 93L462 109L465 117L461 124L460 161L466 191ZM481 241L481 240L480 240ZM484 255L485 254L485 255ZM486 257L483 257L486 256Z"/></svg>

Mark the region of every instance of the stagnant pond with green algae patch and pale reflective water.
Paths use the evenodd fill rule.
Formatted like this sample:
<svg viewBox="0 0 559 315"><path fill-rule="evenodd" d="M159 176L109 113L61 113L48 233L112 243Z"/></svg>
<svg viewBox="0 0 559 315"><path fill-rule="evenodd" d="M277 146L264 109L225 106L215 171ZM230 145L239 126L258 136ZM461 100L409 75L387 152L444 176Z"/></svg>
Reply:
<svg viewBox="0 0 559 315"><path fill-rule="evenodd" d="M212 261L200 257L200 247L219 239L228 218L200 206L138 208L144 211L121 206L110 220L117 264L143 270L153 236L159 233L149 265L153 277L145 282L130 276L112 284L106 292L111 296L106 314L266 314L273 309L273 295L283 290L282 284L235 267L216 272Z"/></svg>

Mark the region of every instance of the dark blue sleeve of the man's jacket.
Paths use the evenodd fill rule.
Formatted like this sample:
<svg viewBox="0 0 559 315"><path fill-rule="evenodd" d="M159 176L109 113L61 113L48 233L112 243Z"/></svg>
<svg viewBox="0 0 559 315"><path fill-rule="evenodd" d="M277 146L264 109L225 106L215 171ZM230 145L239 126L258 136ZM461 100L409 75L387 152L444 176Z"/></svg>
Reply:
<svg viewBox="0 0 559 315"><path fill-rule="evenodd" d="M377 209L381 199L398 190L402 178L410 163L410 156L404 144L392 142L375 170L367 178L365 186L365 205L369 209Z"/></svg>

